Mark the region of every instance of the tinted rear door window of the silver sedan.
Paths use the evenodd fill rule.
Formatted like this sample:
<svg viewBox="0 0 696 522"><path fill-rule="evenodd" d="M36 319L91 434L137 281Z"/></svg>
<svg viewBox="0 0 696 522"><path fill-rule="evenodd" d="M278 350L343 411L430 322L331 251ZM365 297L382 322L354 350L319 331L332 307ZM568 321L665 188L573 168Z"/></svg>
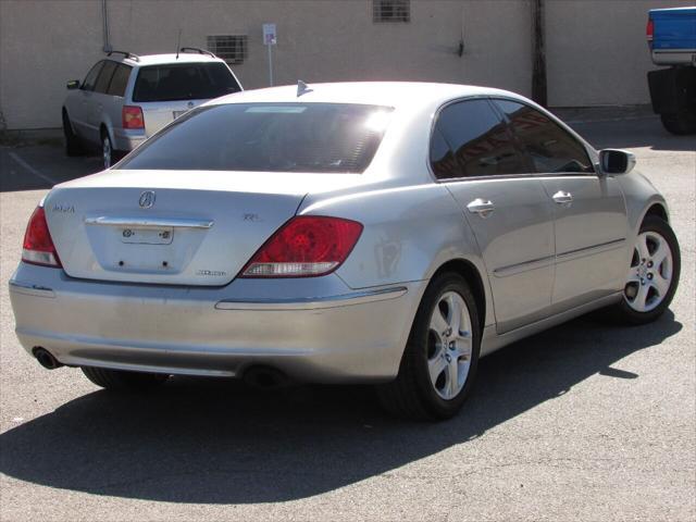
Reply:
<svg viewBox="0 0 696 522"><path fill-rule="evenodd" d="M506 123L487 100L461 101L445 108L436 128L455 153L460 176L521 174L525 171Z"/></svg>

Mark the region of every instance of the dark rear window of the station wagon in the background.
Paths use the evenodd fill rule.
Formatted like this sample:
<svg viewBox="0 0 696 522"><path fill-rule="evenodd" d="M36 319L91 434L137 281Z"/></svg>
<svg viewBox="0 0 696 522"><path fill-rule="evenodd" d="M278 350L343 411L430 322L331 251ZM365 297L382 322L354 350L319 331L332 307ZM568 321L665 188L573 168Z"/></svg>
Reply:
<svg viewBox="0 0 696 522"><path fill-rule="evenodd" d="M202 100L241 90L224 63L176 63L141 67L133 101Z"/></svg>

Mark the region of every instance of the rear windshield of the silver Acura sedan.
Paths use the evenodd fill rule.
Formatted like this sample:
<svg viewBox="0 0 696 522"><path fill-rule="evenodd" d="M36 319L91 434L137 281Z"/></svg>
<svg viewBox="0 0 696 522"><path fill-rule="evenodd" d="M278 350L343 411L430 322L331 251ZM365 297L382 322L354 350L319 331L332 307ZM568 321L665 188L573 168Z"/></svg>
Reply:
<svg viewBox="0 0 696 522"><path fill-rule="evenodd" d="M361 173L391 109L340 103L232 103L195 109L119 169Z"/></svg>

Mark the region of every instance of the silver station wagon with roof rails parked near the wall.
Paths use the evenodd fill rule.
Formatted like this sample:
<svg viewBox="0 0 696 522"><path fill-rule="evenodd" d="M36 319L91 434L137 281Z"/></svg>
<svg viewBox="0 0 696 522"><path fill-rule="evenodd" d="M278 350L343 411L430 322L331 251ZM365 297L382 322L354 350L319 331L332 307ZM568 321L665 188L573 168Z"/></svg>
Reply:
<svg viewBox="0 0 696 522"><path fill-rule="evenodd" d="M241 90L224 60L183 47L176 54L112 51L84 80L67 83L63 134L67 156L99 148L104 169L186 111Z"/></svg>

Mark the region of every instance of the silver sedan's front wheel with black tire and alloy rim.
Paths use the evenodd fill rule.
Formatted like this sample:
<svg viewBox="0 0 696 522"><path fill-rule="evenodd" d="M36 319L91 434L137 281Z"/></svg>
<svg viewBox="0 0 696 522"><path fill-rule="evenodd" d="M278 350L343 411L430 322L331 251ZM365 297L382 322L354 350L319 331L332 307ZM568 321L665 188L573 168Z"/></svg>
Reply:
<svg viewBox="0 0 696 522"><path fill-rule="evenodd" d="M663 252L667 257L660 259ZM657 320L672 302L681 264L679 241L670 225L656 215L646 216L627 268L623 299L608 310L609 318L631 325Z"/></svg>

